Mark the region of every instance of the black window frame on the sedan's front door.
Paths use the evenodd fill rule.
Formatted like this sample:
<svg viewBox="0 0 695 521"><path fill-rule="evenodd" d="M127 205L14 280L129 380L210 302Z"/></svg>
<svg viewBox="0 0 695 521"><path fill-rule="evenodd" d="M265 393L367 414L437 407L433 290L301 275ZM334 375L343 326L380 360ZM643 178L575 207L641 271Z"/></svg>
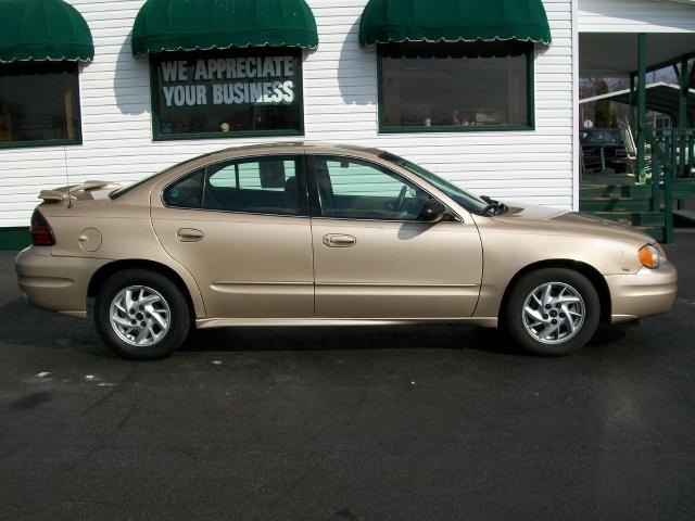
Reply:
<svg viewBox="0 0 695 521"><path fill-rule="evenodd" d="M409 224L421 224L432 226L432 223L428 223L426 220L420 219L378 219L370 217L332 217L324 215L324 208L320 204L320 195L318 192L318 178L315 174L315 157L331 157L338 161L348 161L353 163L365 163L368 166L371 166L378 170L383 171L384 174L391 175L397 179L403 179L404 183L415 185L418 189L426 192L430 198L434 201L439 201L445 208L448 214L448 220L444 219L444 223L464 223L464 218L458 214L458 212L452 209L451 205L441 200L441 198L434 195L431 190L424 188L421 183L414 181L413 179L404 176L400 171L394 170L393 168L388 167L381 163L377 163L375 161L367 160L365 157L355 157L351 155L341 155L341 154L331 154L331 153L307 153L305 156L304 171L306 175L307 186L308 186L308 203L309 203L309 212L313 219L330 219L330 220L350 220L357 223L409 223Z"/></svg>

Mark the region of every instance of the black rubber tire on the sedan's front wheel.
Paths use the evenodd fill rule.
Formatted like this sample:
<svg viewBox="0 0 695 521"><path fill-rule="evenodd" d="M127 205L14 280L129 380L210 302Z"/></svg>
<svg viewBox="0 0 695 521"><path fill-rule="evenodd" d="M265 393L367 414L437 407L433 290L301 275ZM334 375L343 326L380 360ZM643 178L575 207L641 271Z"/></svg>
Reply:
<svg viewBox="0 0 695 521"><path fill-rule="evenodd" d="M543 304L546 284L551 284L551 295L557 296L565 291L565 298L579 296L580 300L561 303L551 296L551 304ZM533 298L532 293L541 298ZM525 313L527 298L533 312L538 306L542 320L535 321L531 314ZM583 275L571 269L546 268L531 271L517 281L504 312L503 326L522 350L534 355L564 356L583 347L594 335L601 318L601 301L596 289ZM579 318L580 312L583 320ZM546 333L551 334L541 340Z"/></svg>

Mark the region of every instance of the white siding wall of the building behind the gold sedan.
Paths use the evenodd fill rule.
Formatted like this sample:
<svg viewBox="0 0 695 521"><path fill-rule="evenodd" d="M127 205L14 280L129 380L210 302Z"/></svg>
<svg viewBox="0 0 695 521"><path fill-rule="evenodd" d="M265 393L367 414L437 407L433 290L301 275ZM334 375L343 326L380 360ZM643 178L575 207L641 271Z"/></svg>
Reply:
<svg viewBox="0 0 695 521"><path fill-rule="evenodd" d="M225 147L270 139L152 142L147 61L130 53L142 0L68 0L96 46L81 67L81 147L0 150L0 227L26 226L41 188L87 179L128 182ZM534 131L377 134L374 48L361 49L366 0L308 0L319 48L304 63L306 140L377 145L479 193L569 208L574 193L571 0L544 0L553 46L538 47ZM287 138L286 138L287 139Z"/></svg>

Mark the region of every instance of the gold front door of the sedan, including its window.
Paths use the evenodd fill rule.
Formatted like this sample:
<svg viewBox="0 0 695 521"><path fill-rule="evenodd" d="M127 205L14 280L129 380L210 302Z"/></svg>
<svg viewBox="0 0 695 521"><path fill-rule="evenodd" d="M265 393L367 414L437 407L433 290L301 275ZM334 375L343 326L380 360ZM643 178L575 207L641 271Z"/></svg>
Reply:
<svg viewBox="0 0 695 521"><path fill-rule="evenodd" d="M320 154L307 165L317 317L472 315L482 277L472 220L418 220L432 195L383 165Z"/></svg>

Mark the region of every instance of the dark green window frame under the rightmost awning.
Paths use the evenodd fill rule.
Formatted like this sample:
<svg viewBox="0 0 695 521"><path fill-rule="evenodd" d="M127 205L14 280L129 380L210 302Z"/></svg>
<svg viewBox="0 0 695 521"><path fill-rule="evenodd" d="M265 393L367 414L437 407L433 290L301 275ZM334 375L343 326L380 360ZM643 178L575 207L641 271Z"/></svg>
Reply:
<svg viewBox="0 0 695 521"><path fill-rule="evenodd" d="M535 46L531 42L519 42L526 46L527 56L527 110L528 125L432 125L390 127L383 125L383 67L384 45L377 43L377 118L378 134L428 134L428 132L490 132L490 131L529 131L535 130Z"/></svg>

